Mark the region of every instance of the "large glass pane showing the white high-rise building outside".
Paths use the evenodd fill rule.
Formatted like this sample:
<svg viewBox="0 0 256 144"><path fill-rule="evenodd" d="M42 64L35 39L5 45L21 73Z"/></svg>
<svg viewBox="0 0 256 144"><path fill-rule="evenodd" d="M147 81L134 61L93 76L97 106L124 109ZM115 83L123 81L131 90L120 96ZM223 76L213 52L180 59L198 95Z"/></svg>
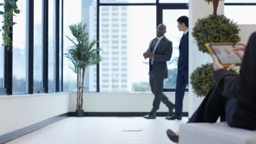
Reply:
<svg viewBox="0 0 256 144"><path fill-rule="evenodd" d="M100 91L150 91L149 61L142 54L156 36L155 11L155 6L100 7Z"/></svg>

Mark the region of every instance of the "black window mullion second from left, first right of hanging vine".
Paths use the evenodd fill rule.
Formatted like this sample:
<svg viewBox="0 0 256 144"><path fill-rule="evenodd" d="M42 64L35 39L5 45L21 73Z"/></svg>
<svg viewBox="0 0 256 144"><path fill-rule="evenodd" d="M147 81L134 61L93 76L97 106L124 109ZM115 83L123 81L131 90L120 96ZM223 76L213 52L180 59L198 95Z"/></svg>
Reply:
<svg viewBox="0 0 256 144"><path fill-rule="evenodd" d="M29 94L33 94L33 71L34 71L34 0L29 0L29 47L28 47L28 86Z"/></svg>

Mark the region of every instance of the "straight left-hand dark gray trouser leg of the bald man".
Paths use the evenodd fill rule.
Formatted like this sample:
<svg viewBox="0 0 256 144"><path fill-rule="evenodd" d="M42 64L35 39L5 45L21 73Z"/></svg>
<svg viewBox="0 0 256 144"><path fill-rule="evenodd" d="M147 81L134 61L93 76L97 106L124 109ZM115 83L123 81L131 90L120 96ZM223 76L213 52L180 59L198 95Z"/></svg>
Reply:
<svg viewBox="0 0 256 144"><path fill-rule="evenodd" d="M163 79L158 79L150 75L149 82L150 82L151 91L155 95L152 111L156 112L159 109L160 102L162 101Z"/></svg>

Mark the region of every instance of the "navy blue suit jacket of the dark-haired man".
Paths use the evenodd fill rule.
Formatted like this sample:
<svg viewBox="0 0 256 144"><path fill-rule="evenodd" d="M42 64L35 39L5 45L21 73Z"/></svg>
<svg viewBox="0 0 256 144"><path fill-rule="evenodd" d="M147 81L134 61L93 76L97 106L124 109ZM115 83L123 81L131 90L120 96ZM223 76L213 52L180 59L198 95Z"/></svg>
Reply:
<svg viewBox="0 0 256 144"><path fill-rule="evenodd" d="M178 70L187 70L189 67L189 32L181 38L179 43Z"/></svg>

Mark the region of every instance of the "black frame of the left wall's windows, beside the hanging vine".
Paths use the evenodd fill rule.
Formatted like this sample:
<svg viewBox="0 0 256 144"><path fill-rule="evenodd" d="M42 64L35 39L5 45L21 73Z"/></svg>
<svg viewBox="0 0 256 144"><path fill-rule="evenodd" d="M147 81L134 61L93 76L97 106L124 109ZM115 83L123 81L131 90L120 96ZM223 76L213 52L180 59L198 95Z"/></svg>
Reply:
<svg viewBox="0 0 256 144"><path fill-rule="evenodd" d="M63 85L63 0L55 0L55 21L56 21L56 29L55 29L55 40L56 43L56 73L55 73L55 92L62 91ZM34 0L27 0L27 13L28 13L28 61L27 61L27 73L28 73L28 93L48 93L48 0L43 0L43 88L34 88L33 85L33 73L34 73ZM61 16L60 16L61 13ZM60 24L61 21L61 24ZM61 26L61 33L60 28ZM13 31L13 28L10 27L10 31ZM10 32L9 37L13 40L13 33ZM60 40L61 37L61 40ZM60 47L61 43L61 47ZM11 49L12 49L11 45ZM60 54L61 49L61 56ZM4 88L0 88L0 95L12 95L12 85L13 85L13 51L8 51L7 47L4 48ZM59 64L61 61L61 65ZM60 69L61 67L61 69ZM60 71L61 70L61 71ZM26 93L22 93L26 94Z"/></svg>

